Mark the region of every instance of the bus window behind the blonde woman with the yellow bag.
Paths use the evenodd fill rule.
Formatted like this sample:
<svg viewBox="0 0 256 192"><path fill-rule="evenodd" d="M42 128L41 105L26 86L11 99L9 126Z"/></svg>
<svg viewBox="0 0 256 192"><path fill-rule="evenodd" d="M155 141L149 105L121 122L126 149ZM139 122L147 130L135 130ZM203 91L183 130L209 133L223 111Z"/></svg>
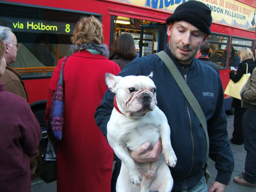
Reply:
<svg viewBox="0 0 256 192"><path fill-rule="evenodd" d="M253 40L243 39L243 38L231 38L231 48L230 48L230 58L228 62L228 67L238 67L240 63L240 51L243 47L248 47L253 50Z"/></svg>

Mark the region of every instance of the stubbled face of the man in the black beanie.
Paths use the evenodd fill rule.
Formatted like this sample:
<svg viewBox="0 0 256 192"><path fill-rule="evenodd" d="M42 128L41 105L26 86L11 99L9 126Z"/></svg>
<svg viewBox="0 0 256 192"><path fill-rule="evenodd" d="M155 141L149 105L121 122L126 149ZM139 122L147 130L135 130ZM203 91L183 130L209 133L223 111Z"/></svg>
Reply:
<svg viewBox="0 0 256 192"><path fill-rule="evenodd" d="M186 21L168 25L169 49L180 64L189 64L208 35Z"/></svg>

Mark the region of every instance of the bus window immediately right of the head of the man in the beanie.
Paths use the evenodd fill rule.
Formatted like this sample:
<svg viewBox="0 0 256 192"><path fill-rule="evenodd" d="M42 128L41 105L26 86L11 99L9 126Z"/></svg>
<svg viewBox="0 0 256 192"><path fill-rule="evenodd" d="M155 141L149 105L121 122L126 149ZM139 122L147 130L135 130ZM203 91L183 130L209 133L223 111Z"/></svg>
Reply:
<svg viewBox="0 0 256 192"><path fill-rule="evenodd" d="M211 52L209 58L222 69L227 67L227 51L229 44L229 36L211 34L207 38L210 43Z"/></svg>

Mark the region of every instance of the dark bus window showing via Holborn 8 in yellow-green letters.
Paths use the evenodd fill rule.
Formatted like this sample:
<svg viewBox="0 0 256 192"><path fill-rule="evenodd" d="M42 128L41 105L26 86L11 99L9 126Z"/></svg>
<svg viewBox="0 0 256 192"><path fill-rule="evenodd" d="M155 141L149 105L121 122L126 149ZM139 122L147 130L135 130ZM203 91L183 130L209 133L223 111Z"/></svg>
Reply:
<svg viewBox="0 0 256 192"><path fill-rule="evenodd" d="M71 55L70 36L82 16L101 15L39 6L1 4L0 25L17 37L20 49L11 64L22 78L51 75L58 60Z"/></svg>

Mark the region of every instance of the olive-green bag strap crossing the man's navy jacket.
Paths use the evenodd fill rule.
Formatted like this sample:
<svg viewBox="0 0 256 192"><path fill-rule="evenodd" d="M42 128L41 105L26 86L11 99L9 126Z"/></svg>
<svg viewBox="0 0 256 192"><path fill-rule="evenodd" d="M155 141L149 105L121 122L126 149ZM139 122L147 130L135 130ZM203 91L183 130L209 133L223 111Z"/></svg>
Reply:
<svg viewBox="0 0 256 192"><path fill-rule="evenodd" d="M207 131L207 122L204 116L204 112L199 105L198 101L196 100L195 96L189 89L189 86L186 84L184 81L183 77L180 74L180 71L177 69L175 66L174 62L172 59L166 54L164 51L157 52L156 55L160 57L160 59L166 64L168 67L169 71L171 72L173 78L177 82L178 86L180 87L182 93L186 97L187 101L189 102L189 105L191 105L192 109L194 110L196 116L198 117L199 121L201 122L203 128L204 128L204 134L207 140L207 160L205 162L205 165L207 164L208 161L208 156L209 156L209 136L208 136L208 131Z"/></svg>

